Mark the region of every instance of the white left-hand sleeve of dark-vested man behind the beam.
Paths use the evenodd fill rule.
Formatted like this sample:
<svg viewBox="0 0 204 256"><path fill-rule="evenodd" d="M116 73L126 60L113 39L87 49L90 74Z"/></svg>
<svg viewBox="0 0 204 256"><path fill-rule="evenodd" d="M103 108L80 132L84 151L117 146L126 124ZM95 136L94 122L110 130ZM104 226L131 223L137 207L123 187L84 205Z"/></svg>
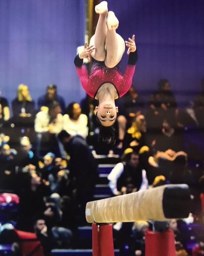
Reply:
<svg viewBox="0 0 204 256"><path fill-rule="evenodd" d="M117 190L117 180L121 176L124 170L124 165L122 163L117 163L108 175L108 186L110 187L114 195L118 195L119 191Z"/></svg>

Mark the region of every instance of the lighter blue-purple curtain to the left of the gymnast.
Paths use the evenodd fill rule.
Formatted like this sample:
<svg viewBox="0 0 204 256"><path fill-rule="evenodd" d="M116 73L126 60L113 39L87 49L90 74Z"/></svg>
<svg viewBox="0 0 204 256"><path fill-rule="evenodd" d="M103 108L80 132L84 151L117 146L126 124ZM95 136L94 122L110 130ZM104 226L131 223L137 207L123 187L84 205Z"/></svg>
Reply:
<svg viewBox="0 0 204 256"><path fill-rule="evenodd" d="M0 0L0 88L9 101L20 83L36 101L58 85L66 103L84 97L73 64L84 43L84 0Z"/></svg>

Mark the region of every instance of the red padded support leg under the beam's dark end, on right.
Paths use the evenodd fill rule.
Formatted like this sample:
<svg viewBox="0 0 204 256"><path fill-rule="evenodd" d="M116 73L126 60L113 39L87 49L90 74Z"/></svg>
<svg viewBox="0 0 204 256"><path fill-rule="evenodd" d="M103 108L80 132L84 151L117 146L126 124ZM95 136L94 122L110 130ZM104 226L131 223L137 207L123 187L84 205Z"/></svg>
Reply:
<svg viewBox="0 0 204 256"><path fill-rule="evenodd" d="M170 229L164 232L145 232L145 256L175 256L175 237Z"/></svg>

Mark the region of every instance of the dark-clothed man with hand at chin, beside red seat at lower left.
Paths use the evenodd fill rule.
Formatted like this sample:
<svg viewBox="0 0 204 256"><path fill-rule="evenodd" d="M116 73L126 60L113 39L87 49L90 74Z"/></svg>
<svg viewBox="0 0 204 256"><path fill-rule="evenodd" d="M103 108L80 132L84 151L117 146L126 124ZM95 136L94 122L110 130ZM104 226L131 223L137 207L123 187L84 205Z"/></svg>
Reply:
<svg viewBox="0 0 204 256"><path fill-rule="evenodd" d="M41 242L43 247L44 255L51 255L51 250L53 248L52 236L48 233L47 226L45 225L45 220L37 219L34 223L34 232L37 239Z"/></svg>

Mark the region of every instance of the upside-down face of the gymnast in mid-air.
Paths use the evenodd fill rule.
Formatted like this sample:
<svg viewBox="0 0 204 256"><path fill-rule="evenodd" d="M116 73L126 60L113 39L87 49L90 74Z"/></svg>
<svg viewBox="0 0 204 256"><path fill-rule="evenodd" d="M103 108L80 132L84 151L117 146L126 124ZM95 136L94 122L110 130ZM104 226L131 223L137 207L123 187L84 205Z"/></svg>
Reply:
<svg viewBox="0 0 204 256"><path fill-rule="evenodd" d="M112 102L102 102L95 110L101 125L111 126L114 124L118 112L118 107L115 107L115 104Z"/></svg>

